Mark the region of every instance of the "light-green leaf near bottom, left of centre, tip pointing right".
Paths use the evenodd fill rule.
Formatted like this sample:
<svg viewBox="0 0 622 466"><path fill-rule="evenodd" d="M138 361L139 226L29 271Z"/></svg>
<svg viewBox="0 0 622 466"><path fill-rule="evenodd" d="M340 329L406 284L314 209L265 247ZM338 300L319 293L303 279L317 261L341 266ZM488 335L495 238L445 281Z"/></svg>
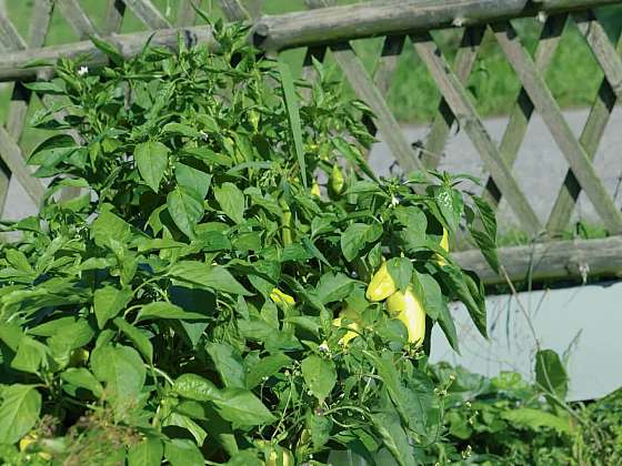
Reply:
<svg viewBox="0 0 622 466"><path fill-rule="evenodd" d="M225 388L213 403L218 414L230 423L254 426L271 424L277 419L263 403L247 389Z"/></svg>

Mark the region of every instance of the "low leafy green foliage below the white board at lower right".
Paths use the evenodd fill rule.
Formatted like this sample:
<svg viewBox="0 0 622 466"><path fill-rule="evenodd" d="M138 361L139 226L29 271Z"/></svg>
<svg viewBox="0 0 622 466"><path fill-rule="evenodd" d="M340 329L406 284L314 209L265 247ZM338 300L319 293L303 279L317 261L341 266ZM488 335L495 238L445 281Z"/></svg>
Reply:
<svg viewBox="0 0 622 466"><path fill-rule="evenodd" d="M544 359L556 357L551 351L545 354L538 358L536 371ZM437 383L448 386L445 442L429 450L441 464L468 459L478 465L611 465L622 459L620 389L589 404L562 407L549 396L554 387L530 385L516 373L486 378L444 363L430 368Z"/></svg>

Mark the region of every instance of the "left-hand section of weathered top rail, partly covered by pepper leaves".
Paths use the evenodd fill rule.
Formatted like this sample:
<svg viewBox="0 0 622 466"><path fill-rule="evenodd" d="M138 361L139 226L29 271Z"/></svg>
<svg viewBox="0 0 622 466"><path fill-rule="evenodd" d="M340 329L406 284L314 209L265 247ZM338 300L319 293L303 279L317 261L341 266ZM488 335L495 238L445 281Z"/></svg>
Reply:
<svg viewBox="0 0 622 466"><path fill-rule="evenodd" d="M178 34L181 33L188 47L204 44L215 47L212 29L205 26L193 26L191 28L161 29L152 31L133 32L130 34L119 34L107 38L110 42L118 45L121 54L126 58L134 57L140 53L144 43L153 36L152 45L167 47L177 50ZM37 50L23 50L20 52L6 53L0 61L0 81L28 80L37 75L49 75L52 67L23 68L26 63L33 59L44 60L53 64L59 58L68 59L89 57L84 64L98 67L108 62L106 55L97 49L91 41L73 42L62 45L44 47Z"/></svg>

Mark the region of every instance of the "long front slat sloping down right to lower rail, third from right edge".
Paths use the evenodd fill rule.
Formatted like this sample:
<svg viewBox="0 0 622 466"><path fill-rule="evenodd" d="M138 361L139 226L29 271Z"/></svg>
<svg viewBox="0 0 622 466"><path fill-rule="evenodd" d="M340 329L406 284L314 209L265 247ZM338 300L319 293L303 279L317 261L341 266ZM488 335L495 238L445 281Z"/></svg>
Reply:
<svg viewBox="0 0 622 466"><path fill-rule="evenodd" d="M529 234L536 235L540 232L538 216L519 188L516 180L512 176L510 169L501 159L474 105L469 100L464 87L451 70L443 53L429 33L420 38L413 37L412 41L419 57L430 70L453 114L480 152L480 156L516 214L521 225Z"/></svg>

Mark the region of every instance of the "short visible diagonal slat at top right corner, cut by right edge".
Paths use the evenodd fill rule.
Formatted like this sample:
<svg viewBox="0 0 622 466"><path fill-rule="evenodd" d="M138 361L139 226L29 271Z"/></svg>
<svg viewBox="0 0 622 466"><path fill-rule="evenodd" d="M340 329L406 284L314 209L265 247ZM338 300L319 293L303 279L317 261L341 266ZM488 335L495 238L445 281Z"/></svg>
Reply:
<svg viewBox="0 0 622 466"><path fill-rule="evenodd" d="M618 99L622 99L622 59L609 40L602 24L590 10L572 16L585 37L594 58L601 65L609 84Z"/></svg>

